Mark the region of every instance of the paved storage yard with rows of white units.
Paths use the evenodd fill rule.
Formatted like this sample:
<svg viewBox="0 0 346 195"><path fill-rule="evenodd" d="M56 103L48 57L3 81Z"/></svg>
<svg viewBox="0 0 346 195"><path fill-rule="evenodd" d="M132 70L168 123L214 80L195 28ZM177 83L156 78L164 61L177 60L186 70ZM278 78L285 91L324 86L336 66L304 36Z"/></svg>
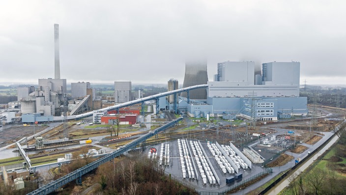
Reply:
<svg viewBox="0 0 346 195"><path fill-rule="evenodd" d="M159 158L167 174L198 189L229 188L243 178L263 171L232 144L177 139L151 148L158 148L157 154L148 149L148 158Z"/></svg>

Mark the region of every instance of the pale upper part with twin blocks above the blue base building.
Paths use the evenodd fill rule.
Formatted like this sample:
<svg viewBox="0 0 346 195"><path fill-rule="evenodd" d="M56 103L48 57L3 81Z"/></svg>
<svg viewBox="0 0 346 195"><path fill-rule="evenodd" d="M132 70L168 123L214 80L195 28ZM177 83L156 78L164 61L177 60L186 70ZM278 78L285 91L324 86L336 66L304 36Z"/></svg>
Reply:
<svg viewBox="0 0 346 195"><path fill-rule="evenodd" d="M253 62L219 63L219 81L208 82L208 97L299 97L299 62L262 64L256 84L254 67Z"/></svg>

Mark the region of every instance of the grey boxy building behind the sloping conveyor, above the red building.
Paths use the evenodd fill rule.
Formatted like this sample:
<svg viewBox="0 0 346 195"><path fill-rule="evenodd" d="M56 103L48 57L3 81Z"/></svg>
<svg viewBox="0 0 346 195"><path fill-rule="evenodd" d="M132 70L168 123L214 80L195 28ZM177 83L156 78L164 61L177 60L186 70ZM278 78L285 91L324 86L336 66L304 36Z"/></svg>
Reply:
<svg viewBox="0 0 346 195"><path fill-rule="evenodd" d="M114 101L115 103L124 103L132 100L131 98L131 81L114 82Z"/></svg>

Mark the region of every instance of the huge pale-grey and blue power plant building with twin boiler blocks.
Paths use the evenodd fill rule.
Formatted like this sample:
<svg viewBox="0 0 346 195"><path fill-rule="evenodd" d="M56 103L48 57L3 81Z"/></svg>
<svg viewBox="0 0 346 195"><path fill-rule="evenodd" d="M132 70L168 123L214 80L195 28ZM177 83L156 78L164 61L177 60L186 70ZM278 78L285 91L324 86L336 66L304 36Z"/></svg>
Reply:
<svg viewBox="0 0 346 195"><path fill-rule="evenodd" d="M218 64L216 81L209 81L206 104L186 106L191 116L210 112L260 121L278 120L279 114L305 116L307 97L299 97L299 62L271 62L255 75L254 62Z"/></svg>

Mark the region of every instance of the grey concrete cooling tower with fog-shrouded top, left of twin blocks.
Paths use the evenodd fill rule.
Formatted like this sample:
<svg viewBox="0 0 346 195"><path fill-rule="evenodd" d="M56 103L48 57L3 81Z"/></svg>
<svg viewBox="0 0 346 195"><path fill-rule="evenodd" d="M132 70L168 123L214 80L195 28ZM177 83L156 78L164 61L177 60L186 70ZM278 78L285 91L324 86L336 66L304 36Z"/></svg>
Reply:
<svg viewBox="0 0 346 195"><path fill-rule="evenodd" d="M207 84L206 60L185 62L184 87ZM182 92L181 97L187 97L187 92ZM189 92L191 99L206 99L206 89L196 89Z"/></svg>

